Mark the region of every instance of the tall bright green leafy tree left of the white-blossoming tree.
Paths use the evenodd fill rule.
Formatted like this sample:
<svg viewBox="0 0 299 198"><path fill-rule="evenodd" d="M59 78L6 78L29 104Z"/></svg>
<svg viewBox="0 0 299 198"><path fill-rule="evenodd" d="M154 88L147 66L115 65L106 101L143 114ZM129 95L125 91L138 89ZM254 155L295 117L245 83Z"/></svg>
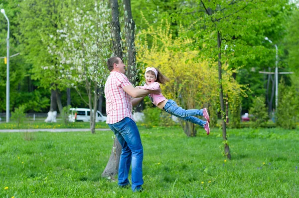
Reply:
<svg viewBox="0 0 299 198"><path fill-rule="evenodd" d="M64 84L57 79L59 75L59 62L48 50L50 35L57 35L61 25L62 13L65 10L65 1L60 0L26 0L20 2L19 14L21 42L20 49L24 52L27 63L32 64L32 79L39 80L40 86L51 91L50 111L62 111L60 91ZM59 46L56 40L54 46ZM56 101L56 103L54 102Z"/></svg>

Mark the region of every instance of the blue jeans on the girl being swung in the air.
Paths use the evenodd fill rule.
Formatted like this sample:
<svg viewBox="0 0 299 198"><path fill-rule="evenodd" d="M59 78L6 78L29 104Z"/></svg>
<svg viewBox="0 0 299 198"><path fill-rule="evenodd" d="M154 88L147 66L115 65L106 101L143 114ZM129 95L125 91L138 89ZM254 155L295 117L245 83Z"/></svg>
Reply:
<svg viewBox="0 0 299 198"><path fill-rule="evenodd" d="M194 116L203 116L203 109L185 110L177 106L176 102L174 102L173 100L168 100L164 106L164 110L171 115L174 115L182 120L197 124L202 128L204 128L204 125L207 123L206 121L194 117Z"/></svg>

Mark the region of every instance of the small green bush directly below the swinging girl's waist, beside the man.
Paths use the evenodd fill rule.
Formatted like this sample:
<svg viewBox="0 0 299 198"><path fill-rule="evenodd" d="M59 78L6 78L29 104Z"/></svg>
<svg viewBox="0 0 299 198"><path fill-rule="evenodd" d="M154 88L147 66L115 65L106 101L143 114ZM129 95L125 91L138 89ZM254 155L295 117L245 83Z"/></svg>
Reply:
<svg viewBox="0 0 299 198"><path fill-rule="evenodd" d="M161 110L157 107L147 107L143 110L144 113L144 126L151 128L159 126Z"/></svg>

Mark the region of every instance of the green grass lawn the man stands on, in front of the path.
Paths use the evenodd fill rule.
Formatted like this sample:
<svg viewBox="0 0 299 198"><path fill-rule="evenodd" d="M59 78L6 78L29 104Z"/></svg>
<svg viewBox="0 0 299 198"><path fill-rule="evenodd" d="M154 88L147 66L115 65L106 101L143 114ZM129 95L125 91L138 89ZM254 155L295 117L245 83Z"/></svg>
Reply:
<svg viewBox="0 0 299 198"><path fill-rule="evenodd" d="M140 132L143 193L101 178L111 131L0 133L0 198L299 198L298 130L229 129L226 162L218 129Z"/></svg>

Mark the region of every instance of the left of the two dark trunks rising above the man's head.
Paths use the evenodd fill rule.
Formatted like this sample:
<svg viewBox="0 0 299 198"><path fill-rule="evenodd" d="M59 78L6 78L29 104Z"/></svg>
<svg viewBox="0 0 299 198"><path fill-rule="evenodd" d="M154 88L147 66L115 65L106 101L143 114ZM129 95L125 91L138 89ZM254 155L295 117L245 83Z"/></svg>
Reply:
<svg viewBox="0 0 299 198"><path fill-rule="evenodd" d="M110 4L111 4L111 11L112 11L113 51L115 53L115 56L118 56L123 60L118 0L110 0Z"/></svg>

